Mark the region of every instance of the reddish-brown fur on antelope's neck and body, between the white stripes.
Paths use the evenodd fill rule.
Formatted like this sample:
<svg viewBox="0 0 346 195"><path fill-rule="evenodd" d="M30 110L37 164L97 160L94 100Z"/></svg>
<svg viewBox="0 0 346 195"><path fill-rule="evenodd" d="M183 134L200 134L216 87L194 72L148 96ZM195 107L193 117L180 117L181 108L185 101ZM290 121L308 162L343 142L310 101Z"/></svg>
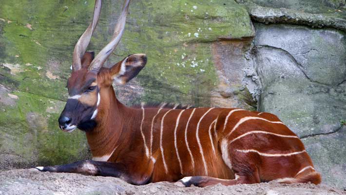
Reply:
<svg viewBox="0 0 346 195"><path fill-rule="evenodd" d="M208 108L198 108L195 110L195 113L190 120L187 132L188 143L195 161L194 169L192 169L192 159L189 156L188 149L184 141L184 130L186 128L187 120L191 115L193 109L188 109L183 112L177 127L177 140L179 140L178 151L181 161L183 162L182 174L179 170L179 162L177 160L174 149L173 135L175 122L181 110L170 111L170 113L165 117L162 143L164 148L164 156L168 165L168 173L166 174L162 155L160 153L160 123L163 115L170 109L162 109L154 120L153 147L152 149L149 148L149 151L152 151L152 156L156 158L156 163L154 164L152 160L145 155L146 152L144 147L144 140L140 133L142 110L126 107L118 102L115 99L115 94L113 92L112 86L109 87L108 92L105 93L105 95L103 94L104 93L101 93L100 109L102 110L103 107L111 106L110 108L112 109L110 110L115 110L115 112L109 113L109 115L105 115L102 112L102 115L96 117L96 120L99 120L100 124L102 124L100 126L97 126L97 128L95 129L95 132L97 132L97 134L87 133L88 142L92 149L93 156L104 156L107 154L111 154L112 150L116 148L115 152L108 161L122 162L127 165L132 165L130 166L129 171L131 175L135 177L135 180L141 181L143 178L149 177L151 182L176 181L184 176L211 176L221 179L233 179L233 172L242 172L241 170L247 170L247 172L249 173L257 172L256 176L254 176L254 178L249 181L250 183L255 183L284 177L294 178L302 168L306 166L313 166L311 159L306 152L293 156L268 157L260 156L258 154L240 154L239 152L236 152L234 150L255 149L259 152L269 154L292 153L305 150L303 143L298 138L253 134L238 139L230 145L230 160L232 161L232 164L237 165L238 167L235 167L235 170L229 169L222 159L220 150L221 139L232 140L233 138L249 131L268 131L276 134L290 136L295 136L295 134L283 124L271 124L266 121L255 119L249 120L240 125L236 129L236 131L231 134L231 136L227 137L227 134L241 118L248 116L259 117L258 112L235 112L229 118L227 127L223 132L222 129L225 117L227 116L229 111L231 111L231 109L215 108L203 118L199 126L199 139L202 143L204 157L207 162L207 175L204 171L203 162L196 140L196 126L200 117L202 117L202 115L206 113ZM108 98L109 95L111 99ZM159 108L145 109L145 119L143 121L142 127L146 140L145 144L147 144L148 147L151 140L150 131L152 118L157 114L158 109ZM208 130L211 122L217 117L217 137L215 137L214 133L211 134L212 141L216 149L216 154L214 155L211 149L211 141ZM263 114L260 117L266 118L271 121L279 121L276 116L267 113ZM213 128L212 131L214 131ZM113 136L105 136L112 134ZM107 146L98 144L96 140L102 140L102 142L106 142ZM154 166L153 171L152 166ZM250 170L254 167L256 167L258 170ZM310 173L311 172L308 172L307 174ZM321 179L319 174L315 174L306 179L297 180L296 182L308 181L318 184L320 183Z"/></svg>

